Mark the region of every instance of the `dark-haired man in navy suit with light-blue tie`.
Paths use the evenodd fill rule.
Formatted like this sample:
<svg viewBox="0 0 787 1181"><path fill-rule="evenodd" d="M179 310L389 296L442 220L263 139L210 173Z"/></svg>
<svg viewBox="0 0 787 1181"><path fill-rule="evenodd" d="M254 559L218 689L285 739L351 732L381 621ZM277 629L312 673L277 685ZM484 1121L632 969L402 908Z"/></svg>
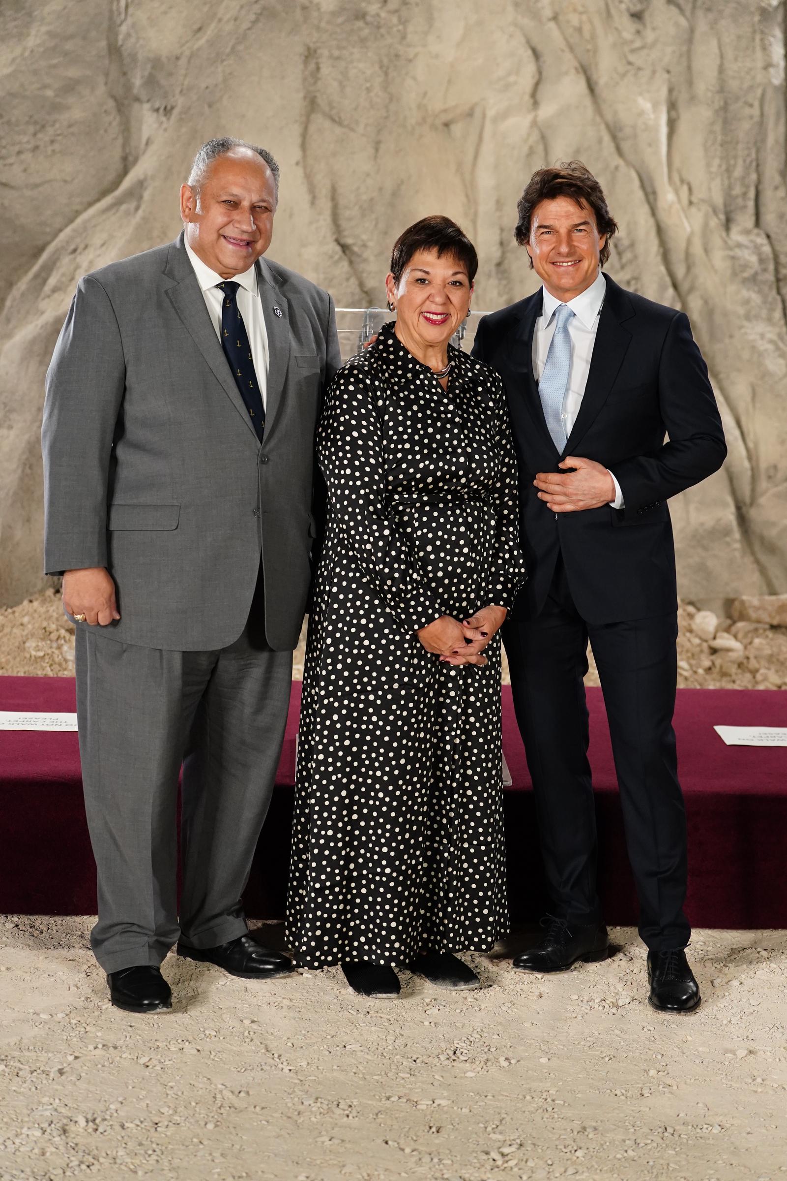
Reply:
<svg viewBox="0 0 787 1181"><path fill-rule="evenodd" d="M687 1012L700 990L673 712L675 547L667 501L727 449L708 370L683 312L618 287L602 268L617 226L571 162L533 175L517 241L543 287L485 317L473 354L505 379L519 461L529 581L504 625L533 781L552 913L513 966L556 972L604 959L583 677L588 640L609 718L648 946L650 1004ZM668 442L665 442L668 436Z"/></svg>

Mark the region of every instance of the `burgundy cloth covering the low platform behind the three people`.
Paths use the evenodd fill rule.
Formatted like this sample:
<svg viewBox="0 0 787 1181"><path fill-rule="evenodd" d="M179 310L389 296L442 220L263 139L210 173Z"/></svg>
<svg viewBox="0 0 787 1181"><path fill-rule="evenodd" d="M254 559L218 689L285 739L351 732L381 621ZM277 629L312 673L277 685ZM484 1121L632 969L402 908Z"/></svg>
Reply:
<svg viewBox="0 0 787 1181"><path fill-rule="evenodd" d="M301 685L294 681L277 790L245 893L247 911L255 918L283 913L300 702ZM588 704L599 888L606 921L632 924L636 895L601 690L588 691ZM74 709L72 678L0 677L0 710ZM714 724L787 726L787 692L678 691L675 729L689 828L689 918L707 927L785 927L787 748L726 746ZM505 800L511 907L516 918L534 919L546 900L532 789L507 687L503 736L513 779ZM94 913L96 870L76 733L0 731L0 823L1 911Z"/></svg>

